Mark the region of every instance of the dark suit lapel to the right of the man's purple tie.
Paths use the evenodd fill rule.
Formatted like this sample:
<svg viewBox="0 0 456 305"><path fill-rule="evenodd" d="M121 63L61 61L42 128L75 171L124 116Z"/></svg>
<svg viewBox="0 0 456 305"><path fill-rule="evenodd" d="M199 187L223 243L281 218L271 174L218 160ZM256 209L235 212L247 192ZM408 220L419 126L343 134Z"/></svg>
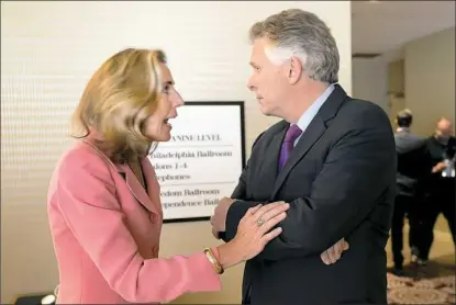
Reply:
<svg viewBox="0 0 456 305"><path fill-rule="evenodd" d="M346 97L347 95L344 89L342 89L341 86L335 84L334 91L331 93L331 95L320 109L319 113L315 115L315 117L313 117L312 122L302 133L298 145L291 150L288 161L285 163L282 170L278 173L270 200L275 200L275 196L277 195L290 171L309 152L313 144L324 134L327 128L327 122L336 115ZM275 138L275 140L277 140L277 138ZM280 143L278 144L279 151L281 142L282 138L280 138ZM278 158L279 155L277 155L277 162ZM277 167L275 170L277 170Z"/></svg>

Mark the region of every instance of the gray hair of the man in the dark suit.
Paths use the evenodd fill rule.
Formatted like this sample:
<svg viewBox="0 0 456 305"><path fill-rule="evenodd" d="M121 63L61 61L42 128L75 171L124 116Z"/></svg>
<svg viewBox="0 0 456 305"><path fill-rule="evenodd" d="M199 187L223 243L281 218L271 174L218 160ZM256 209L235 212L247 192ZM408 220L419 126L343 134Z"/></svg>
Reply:
<svg viewBox="0 0 456 305"><path fill-rule="evenodd" d="M276 46L267 49L269 59L279 65L292 56L303 64L304 72L314 80L338 81L340 55L326 24L314 13L290 9L255 23L251 41L267 37Z"/></svg>

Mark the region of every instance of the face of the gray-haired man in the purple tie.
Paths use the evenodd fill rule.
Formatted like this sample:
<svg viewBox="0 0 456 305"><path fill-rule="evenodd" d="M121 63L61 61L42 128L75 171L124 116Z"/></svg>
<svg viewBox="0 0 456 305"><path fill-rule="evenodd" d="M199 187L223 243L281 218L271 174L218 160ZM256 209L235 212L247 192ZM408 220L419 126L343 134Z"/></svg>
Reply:
<svg viewBox="0 0 456 305"><path fill-rule="evenodd" d="M268 46L270 46L268 38L255 41L251 56L253 74L248 79L247 88L255 93L263 114L280 117L281 108L287 100L289 81L285 65L275 65L267 57Z"/></svg>

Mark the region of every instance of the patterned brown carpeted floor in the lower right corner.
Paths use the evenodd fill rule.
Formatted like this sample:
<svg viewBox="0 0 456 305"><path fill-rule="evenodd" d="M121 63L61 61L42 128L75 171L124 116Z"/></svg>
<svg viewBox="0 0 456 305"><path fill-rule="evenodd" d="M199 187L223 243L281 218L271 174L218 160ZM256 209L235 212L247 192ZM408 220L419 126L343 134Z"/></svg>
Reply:
<svg viewBox="0 0 456 305"><path fill-rule="evenodd" d="M405 276L388 273L388 303L455 304L455 271L454 263L434 260L424 267L405 266Z"/></svg>

